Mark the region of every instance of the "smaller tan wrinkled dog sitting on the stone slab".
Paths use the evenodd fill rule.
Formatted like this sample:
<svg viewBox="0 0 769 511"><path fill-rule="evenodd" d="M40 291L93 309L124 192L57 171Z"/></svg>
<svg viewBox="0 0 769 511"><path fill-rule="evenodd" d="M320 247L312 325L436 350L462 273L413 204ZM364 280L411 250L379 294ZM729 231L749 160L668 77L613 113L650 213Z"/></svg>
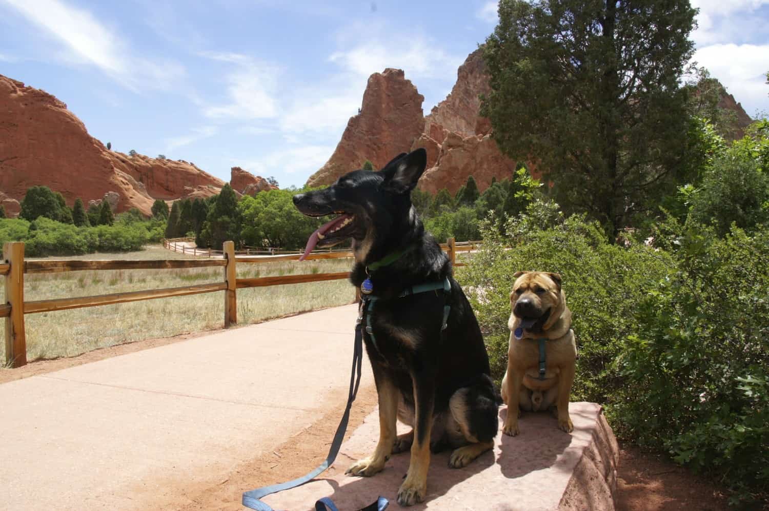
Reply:
<svg viewBox="0 0 769 511"><path fill-rule="evenodd" d="M569 418L569 395L574 383L577 343L571 330L571 310L561 289L561 275L519 271L510 294L511 314L508 370L502 378L502 400L508 405L502 432L518 434L522 410L537 411L555 406L558 427L574 430ZM540 338L545 346L544 379L540 379Z"/></svg>

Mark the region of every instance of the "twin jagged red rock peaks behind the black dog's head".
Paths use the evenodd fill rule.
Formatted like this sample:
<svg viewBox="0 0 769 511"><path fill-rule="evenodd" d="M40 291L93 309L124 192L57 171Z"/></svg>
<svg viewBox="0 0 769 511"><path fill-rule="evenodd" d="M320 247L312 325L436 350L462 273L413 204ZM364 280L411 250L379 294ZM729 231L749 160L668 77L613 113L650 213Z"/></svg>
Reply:
<svg viewBox="0 0 769 511"><path fill-rule="evenodd" d="M488 91L481 50L468 56L457 72L448 97L427 117L424 97L400 69L385 69L368 78L363 105L350 118L336 151L308 185L331 184L336 178L371 160L381 168L396 154L425 148L428 170L419 187L437 193L447 187L454 194L472 175L483 190L491 178L506 178L514 162L504 157L489 134L491 124L481 118L478 95Z"/></svg>

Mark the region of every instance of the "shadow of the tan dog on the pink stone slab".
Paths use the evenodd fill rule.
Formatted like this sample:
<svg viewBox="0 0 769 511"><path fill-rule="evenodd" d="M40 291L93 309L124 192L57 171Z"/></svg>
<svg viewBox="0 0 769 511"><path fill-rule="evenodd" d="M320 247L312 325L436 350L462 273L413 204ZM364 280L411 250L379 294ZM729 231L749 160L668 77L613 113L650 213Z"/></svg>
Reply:
<svg viewBox="0 0 769 511"><path fill-rule="evenodd" d="M499 412L500 425L507 416L508 409L503 406ZM508 479L550 468L572 440L569 433L558 429L558 420L549 411L521 412L518 428L517 436L501 432L498 436L497 463Z"/></svg>

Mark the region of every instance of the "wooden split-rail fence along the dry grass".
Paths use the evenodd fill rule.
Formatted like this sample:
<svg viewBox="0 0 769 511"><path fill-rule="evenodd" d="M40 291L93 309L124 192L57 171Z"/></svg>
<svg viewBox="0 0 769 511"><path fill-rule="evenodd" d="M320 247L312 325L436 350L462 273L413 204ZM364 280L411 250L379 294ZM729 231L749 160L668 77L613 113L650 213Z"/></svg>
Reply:
<svg viewBox="0 0 769 511"><path fill-rule="evenodd" d="M164 240L163 246L175 246L178 241ZM458 252L473 251L478 246L477 241L464 243L448 242L441 248L448 253L454 266L462 266L457 262ZM283 284L301 284L305 282L320 282L322 280L338 280L349 277L347 271L328 274L298 274L281 277L237 278L236 264L263 263L275 260L298 260L301 254L264 255L246 254L244 251L235 253L235 244L225 241L223 251L211 255L208 249L198 249L197 253L188 247L185 254L204 256L205 259L161 259L161 260L25 260L24 243L11 242L3 245L3 258L0 260L0 277L5 277L5 304L0 304L0 317L5 318L5 365L22 367L27 363L27 344L25 337L24 316L54 310L80 309L99 305L123 304L139 300L155 298L181 297L190 294L225 292L225 328L238 323L237 290L245 287L278 286ZM172 249L171 249L172 250ZM220 255L221 254L221 255ZM245 257L238 257L238 255ZM253 257L260 255L260 257ZM250 257L249 257L250 256ZM216 258L212 258L216 257ZM353 257L351 251L313 252L307 259L335 259ZM224 280L211 284L195 284L181 287L165 287L161 289L128 291L125 293L99 294L90 297L55 298L51 300L24 300L25 274L54 274L65 271L79 270L175 270L179 268L221 267L224 270Z"/></svg>

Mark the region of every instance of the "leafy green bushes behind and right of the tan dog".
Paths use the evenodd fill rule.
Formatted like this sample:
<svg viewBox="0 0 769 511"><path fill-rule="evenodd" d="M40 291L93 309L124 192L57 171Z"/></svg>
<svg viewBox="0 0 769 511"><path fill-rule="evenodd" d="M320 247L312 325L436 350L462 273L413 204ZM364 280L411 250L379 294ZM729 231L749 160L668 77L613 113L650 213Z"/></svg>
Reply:
<svg viewBox="0 0 769 511"><path fill-rule="evenodd" d="M726 237L674 217L655 247L609 244L584 217L535 197L458 270L493 376L507 361L518 270L556 271L579 357L572 400L606 406L614 432L720 479L733 503L769 495L769 229Z"/></svg>

